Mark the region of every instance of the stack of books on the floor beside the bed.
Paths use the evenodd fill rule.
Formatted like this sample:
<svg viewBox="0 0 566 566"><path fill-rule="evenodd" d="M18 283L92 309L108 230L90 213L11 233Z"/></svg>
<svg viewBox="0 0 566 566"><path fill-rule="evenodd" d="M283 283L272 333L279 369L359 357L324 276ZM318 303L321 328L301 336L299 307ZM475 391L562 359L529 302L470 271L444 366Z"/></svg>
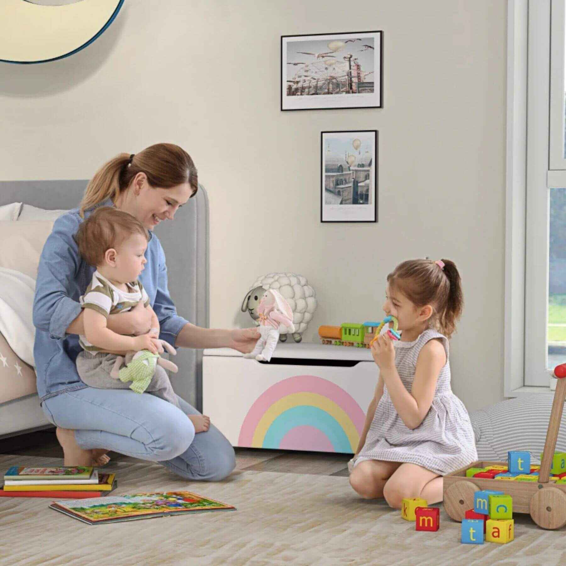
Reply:
<svg viewBox="0 0 566 566"><path fill-rule="evenodd" d="M116 486L114 474L99 474L91 466L12 466L4 475L0 497L96 498Z"/></svg>

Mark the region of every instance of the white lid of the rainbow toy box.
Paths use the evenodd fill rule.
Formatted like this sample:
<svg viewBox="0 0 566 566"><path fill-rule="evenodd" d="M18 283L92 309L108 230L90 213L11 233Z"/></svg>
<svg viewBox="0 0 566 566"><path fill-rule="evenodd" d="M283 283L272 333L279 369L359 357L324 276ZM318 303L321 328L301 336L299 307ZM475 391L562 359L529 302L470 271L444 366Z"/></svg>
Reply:
<svg viewBox="0 0 566 566"><path fill-rule="evenodd" d="M207 348L204 350L205 356L232 356L241 357L242 354L231 348ZM294 358L294 359L328 359L344 360L357 362L374 362L371 351L367 348L353 348L352 346L331 346L326 344L309 344L301 342L279 342L273 353L271 361L275 358Z"/></svg>

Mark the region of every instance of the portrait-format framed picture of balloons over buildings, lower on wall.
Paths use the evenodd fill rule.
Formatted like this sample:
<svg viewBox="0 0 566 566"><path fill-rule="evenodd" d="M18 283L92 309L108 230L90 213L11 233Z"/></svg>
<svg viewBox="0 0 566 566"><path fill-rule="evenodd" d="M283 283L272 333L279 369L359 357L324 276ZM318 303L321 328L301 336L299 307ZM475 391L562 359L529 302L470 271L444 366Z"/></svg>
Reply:
<svg viewBox="0 0 566 566"><path fill-rule="evenodd" d="M320 134L320 221L378 221L378 131Z"/></svg>

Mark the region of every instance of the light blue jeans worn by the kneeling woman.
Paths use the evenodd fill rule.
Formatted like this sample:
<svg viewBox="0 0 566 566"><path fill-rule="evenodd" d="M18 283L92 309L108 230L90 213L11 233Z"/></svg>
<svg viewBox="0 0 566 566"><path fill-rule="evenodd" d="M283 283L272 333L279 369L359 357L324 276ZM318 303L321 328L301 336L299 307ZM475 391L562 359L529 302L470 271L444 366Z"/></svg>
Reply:
<svg viewBox="0 0 566 566"><path fill-rule="evenodd" d="M195 435L187 414L200 414L181 397L169 402L130 389L86 387L59 393L41 406L55 426L75 430L80 448L107 448L158 462L186 479L218 481L235 467L234 449L211 423Z"/></svg>

